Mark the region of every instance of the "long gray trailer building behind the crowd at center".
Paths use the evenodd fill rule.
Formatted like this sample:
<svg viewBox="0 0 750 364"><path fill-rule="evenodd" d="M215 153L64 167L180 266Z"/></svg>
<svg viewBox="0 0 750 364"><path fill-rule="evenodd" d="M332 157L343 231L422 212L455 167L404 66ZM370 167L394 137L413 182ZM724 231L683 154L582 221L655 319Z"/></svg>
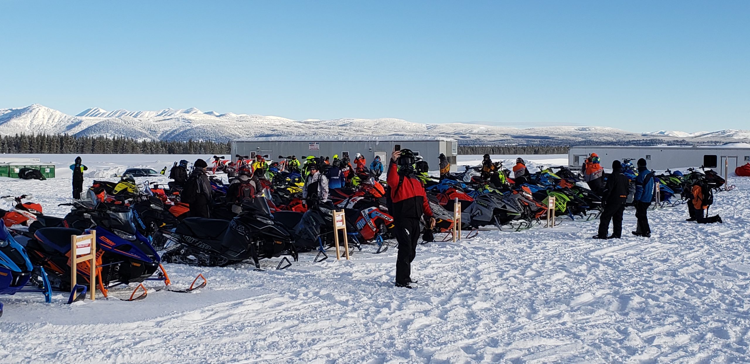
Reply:
<svg viewBox="0 0 750 364"><path fill-rule="evenodd" d="M232 142L232 158L236 155L255 157L261 154L269 160L276 160L278 156L296 156L297 159L313 155L316 157L339 158L348 155L352 160L359 153L365 156L368 164L375 156L380 156L383 163L391 157L396 145L408 148L415 154L421 155L430 165L430 169L437 170L438 156L442 153L448 157L451 169L455 171L458 156L458 142L455 139L399 136L353 136L353 137L284 137L272 136L266 138L236 139Z"/></svg>

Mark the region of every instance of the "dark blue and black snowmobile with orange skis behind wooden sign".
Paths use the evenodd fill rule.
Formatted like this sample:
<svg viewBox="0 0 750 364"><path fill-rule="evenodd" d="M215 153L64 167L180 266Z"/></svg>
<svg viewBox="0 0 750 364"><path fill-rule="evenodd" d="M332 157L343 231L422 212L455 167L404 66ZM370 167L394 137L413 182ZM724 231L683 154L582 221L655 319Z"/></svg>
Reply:
<svg viewBox="0 0 750 364"><path fill-rule="evenodd" d="M145 280L165 280L163 269L157 278L150 278L160 268L160 258L132 222L129 207L97 201L80 201L62 225L68 227L39 228L28 240L26 248L34 264L50 273L52 288L71 291L70 261L71 235L83 234L89 225L97 235L98 285L104 296L117 285L140 283ZM80 282L89 280L89 263L77 266ZM168 284L168 282L166 282ZM145 288L144 288L145 291ZM142 295L145 297L145 295Z"/></svg>

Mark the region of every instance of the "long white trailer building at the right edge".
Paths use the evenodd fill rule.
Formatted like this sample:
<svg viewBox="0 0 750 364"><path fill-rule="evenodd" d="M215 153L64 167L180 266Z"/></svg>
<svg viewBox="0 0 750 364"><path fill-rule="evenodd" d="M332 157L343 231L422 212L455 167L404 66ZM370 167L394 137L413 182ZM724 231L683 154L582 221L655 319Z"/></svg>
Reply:
<svg viewBox="0 0 750 364"><path fill-rule="evenodd" d="M568 167L580 169L583 161L590 154L598 154L601 166L610 168L612 160L632 158L633 164L638 158L644 158L649 169L684 169L688 167L706 167L724 175L724 168L728 167L730 175L737 166L750 161L750 148L726 146L669 146L669 147L608 147L608 146L577 146L568 149ZM683 171L684 172L684 171Z"/></svg>

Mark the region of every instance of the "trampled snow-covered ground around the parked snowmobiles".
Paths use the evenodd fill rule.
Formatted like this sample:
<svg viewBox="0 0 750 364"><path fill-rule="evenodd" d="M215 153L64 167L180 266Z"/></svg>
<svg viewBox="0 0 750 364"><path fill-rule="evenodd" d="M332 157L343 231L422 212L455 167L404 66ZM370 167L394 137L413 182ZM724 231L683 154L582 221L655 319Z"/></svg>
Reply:
<svg viewBox="0 0 750 364"><path fill-rule="evenodd" d="M74 158L41 157L65 168ZM89 175L160 170L182 158L82 157ZM459 164L472 160L481 157ZM732 183L736 189L717 193L711 207L724 224L685 222L684 206L649 211L650 239L628 233L635 225L628 210L621 240L592 240L598 221L565 221L421 245L413 290L393 287L396 249L374 255L365 246L352 261L314 264L306 253L281 271L166 264L178 287L197 273L208 286L136 302L68 306L63 294L52 304L40 294L0 296L0 363L748 362L750 181ZM69 172L0 181L2 195L28 192L62 216L67 207L56 204L68 201Z"/></svg>

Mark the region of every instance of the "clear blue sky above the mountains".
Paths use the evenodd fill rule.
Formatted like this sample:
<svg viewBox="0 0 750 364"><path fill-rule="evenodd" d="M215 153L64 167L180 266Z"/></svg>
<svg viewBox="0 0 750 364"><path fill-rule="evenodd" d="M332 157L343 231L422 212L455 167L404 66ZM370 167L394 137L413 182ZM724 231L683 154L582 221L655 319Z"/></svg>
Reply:
<svg viewBox="0 0 750 364"><path fill-rule="evenodd" d="M750 129L750 1L6 1L0 108Z"/></svg>

